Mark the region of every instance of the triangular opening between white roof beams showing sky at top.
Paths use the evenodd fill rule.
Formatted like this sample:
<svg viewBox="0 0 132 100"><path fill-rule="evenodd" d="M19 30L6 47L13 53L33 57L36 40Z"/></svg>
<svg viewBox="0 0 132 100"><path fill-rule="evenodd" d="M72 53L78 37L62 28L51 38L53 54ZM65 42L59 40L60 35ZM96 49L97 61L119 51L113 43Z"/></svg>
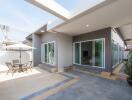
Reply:
<svg viewBox="0 0 132 100"><path fill-rule="evenodd" d="M62 7L67 9L72 15L90 9L106 0L55 0Z"/></svg>

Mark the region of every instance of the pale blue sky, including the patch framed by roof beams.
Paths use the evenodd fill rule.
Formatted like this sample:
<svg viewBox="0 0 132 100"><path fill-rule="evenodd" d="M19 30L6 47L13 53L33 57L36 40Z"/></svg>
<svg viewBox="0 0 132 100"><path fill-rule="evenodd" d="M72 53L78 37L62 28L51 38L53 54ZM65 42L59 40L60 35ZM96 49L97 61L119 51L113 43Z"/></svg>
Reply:
<svg viewBox="0 0 132 100"><path fill-rule="evenodd" d="M54 0L70 12L102 0ZM25 0L0 0L0 25L9 26L8 38L23 41L30 33L59 18ZM0 41L4 40L0 30Z"/></svg>

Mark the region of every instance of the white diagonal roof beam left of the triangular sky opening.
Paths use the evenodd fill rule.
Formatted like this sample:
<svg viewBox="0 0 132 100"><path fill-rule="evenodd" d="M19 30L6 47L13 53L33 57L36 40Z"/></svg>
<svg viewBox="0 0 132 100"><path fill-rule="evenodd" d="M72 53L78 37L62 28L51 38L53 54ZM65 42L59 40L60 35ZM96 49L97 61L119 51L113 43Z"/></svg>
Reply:
<svg viewBox="0 0 132 100"><path fill-rule="evenodd" d="M70 12L56 3L54 0L26 0L29 3L48 11L49 13L63 19L70 19Z"/></svg>

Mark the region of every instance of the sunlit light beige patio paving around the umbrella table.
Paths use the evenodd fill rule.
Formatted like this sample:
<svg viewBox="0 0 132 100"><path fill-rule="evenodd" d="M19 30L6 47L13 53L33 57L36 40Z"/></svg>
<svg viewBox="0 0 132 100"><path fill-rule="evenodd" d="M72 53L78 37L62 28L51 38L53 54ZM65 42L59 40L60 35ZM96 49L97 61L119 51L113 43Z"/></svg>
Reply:
<svg viewBox="0 0 132 100"><path fill-rule="evenodd" d="M15 73L6 75L6 71L0 73L0 100L27 100L35 93L66 81L68 77L49 73L40 68L33 68L32 72ZM33 95L32 95L33 94ZM35 94L36 95L36 94Z"/></svg>

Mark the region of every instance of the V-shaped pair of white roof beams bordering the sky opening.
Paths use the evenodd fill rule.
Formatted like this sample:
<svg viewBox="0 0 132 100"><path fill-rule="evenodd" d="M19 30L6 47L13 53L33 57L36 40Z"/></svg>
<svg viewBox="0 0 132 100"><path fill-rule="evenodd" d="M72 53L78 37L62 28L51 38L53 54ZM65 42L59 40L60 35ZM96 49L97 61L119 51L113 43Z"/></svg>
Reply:
<svg viewBox="0 0 132 100"><path fill-rule="evenodd" d="M74 12L65 9L63 6L61 6L55 0L25 0L25 1L37 6L38 8L41 8L41 9L51 13L63 20L69 20L69 19L71 19L75 16L78 16L79 14L81 14L91 8L99 6L100 4L108 3L111 1L115 1L115 0L97 0L97 1L94 1L94 3L91 5L84 6L80 9L76 9ZM86 2L86 1L82 1L82 2ZM86 3L88 3L88 2L86 2Z"/></svg>

